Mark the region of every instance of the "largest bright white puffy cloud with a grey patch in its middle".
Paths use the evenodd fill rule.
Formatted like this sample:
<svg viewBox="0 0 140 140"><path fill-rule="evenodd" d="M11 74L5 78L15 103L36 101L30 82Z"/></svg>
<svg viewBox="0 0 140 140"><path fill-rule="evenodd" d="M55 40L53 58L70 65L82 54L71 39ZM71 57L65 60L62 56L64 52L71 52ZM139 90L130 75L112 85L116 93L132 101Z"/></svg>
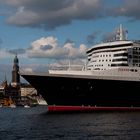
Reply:
<svg viewBox="0 0 140 140"><path fill-rule="evenodd" d="M27 53L31 58L58 58L67 52L58 46L56 38L42 37L31 43L31 47L27 50Z"/></svg>

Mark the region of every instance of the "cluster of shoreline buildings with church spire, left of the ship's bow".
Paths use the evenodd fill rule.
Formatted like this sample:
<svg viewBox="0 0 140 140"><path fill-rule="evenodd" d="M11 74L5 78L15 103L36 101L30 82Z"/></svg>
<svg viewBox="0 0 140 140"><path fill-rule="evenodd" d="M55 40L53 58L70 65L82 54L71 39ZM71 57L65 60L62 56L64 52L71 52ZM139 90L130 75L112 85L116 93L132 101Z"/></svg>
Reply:
<svg viewBox="0 0 140 140"><path fill-rule="evenodd" d="M32 105L38 103L37 90L28 83L21 83L19 74L19 60L17 54L13 59L12 79L8 83L5 75L4 81L0 84L0 105ZM39 98L40 100L42 98ZM43 99L42 99L43 100ZM42 101L41 100L41 101ZM12 102L11 102L12 101Z"/></svg>

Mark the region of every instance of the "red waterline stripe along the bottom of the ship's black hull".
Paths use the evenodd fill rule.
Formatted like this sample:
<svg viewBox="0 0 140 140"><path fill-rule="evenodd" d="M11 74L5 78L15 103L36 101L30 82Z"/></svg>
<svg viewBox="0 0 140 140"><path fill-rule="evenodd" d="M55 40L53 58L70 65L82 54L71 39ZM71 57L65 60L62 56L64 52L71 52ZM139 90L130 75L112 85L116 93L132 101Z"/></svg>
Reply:
<svg viewBox="0 0 140 140"><path fill-rule="evenodd" d="M69 111L140 111L140 107L95 107L95 106L57 106L48 105L48 112Z"/></svg>

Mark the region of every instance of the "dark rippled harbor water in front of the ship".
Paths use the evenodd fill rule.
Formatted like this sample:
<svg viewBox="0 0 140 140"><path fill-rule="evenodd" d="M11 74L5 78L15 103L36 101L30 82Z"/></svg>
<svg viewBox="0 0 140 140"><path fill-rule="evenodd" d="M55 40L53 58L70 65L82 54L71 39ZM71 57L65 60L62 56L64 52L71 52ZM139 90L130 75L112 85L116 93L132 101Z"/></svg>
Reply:
<svg viewBox="0 0 140 140"><path fill-rule="evenodd" d="M139 140L140 112L48 114L46 106L0 108L0 140Z"/></svg>

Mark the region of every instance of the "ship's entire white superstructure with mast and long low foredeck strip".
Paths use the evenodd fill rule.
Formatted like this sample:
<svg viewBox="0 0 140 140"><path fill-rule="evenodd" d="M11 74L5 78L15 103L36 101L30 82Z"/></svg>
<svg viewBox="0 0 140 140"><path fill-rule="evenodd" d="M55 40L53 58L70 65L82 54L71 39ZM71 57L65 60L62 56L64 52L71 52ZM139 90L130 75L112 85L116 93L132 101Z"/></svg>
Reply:
<svg viewBox="0 0 140 140"><path fill-rule="evenodd" d="M49 70L50 74L104 76L140 80L140 41L127 40L127 31L120 25L113 41L96 44L87 50L84 71ZM100 78L100 77L98 77ZM103 77L102 77L103 78Z"/></svg>

